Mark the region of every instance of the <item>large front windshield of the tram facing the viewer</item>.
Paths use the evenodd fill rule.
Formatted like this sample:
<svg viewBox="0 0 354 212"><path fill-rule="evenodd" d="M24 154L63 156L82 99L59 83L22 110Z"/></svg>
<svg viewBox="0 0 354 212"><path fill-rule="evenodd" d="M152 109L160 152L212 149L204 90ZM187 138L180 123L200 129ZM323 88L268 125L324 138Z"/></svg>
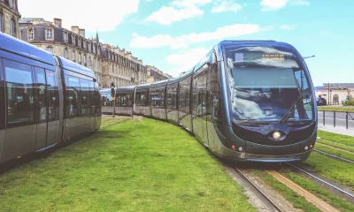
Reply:
<svg viewBox="0 0 354 212"><path fill-rule="evenodd" d="M312 120L308 74L289 49L226 47L234 122L304 124Z"/></svg>

